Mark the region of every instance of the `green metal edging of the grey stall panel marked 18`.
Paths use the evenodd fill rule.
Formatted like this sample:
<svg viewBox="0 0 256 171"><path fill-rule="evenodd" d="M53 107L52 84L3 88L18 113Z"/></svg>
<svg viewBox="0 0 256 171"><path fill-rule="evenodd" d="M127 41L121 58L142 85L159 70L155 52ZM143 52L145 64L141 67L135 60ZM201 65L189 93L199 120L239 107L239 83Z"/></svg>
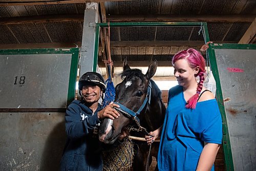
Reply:
<svg viewBox="0 0 256 171"><path fill-rule="evenodd" d="M31 55L31 54L72 54L71 67L69 75L69 89L67 96L67 105L75 99L76 76L78 67L78 48L62 49L4 49L0 50L0 55ZM66 109L64 109L66 110Z"/></svg>

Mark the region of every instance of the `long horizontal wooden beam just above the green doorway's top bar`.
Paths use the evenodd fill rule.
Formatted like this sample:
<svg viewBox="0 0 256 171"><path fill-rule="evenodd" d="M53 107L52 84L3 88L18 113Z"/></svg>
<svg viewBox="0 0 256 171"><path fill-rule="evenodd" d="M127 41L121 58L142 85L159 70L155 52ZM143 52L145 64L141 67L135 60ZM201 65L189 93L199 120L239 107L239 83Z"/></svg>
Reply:
<svg viewBox="0 0 256 171"><path fill-rule="evenodd" d="M109 15L108 22L252 22L255 14Z"/></svg>

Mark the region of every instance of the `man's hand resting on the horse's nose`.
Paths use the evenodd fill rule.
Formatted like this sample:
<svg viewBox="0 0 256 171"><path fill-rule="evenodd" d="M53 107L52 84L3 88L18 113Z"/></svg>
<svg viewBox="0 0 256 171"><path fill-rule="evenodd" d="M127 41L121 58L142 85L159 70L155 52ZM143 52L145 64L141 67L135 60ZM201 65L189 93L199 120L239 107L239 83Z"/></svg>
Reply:
<svg viewBox="0 0 256 171"><path fill-rule="evenodd" d="M98 112L98 118L101 120L105 118L110 118L112 120L118 118L120 114L114 109L114 107L120 108L118 104L115 104L112 101L109 105L106 105L105 108Z"/></svg>

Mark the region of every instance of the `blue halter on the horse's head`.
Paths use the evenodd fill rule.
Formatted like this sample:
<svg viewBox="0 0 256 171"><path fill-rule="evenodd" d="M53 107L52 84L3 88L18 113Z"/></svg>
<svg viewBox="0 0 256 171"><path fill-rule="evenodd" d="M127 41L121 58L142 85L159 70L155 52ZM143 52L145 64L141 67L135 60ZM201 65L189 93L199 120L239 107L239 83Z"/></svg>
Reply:
<svg viewBox="0 0 256 171"><path fill-rule="evenodd" d="M133 117L134 119L136 119L138 122L140 122L139 118L137 117L137 115L140 114L140 112L145 108L146 104L150 104L150 99L151 99L151 81L150 83L148 83L148 87L147 87L147 94L146 94L146 98L144 99L142 105L140 106L139 110L137 112L132 111L131 109L126 108L126 106L118 103L118 102L114 102L115 104L118 104L120 106L120 108L115 108L117 111L121 112L122 114L125 114L127 117Z"/></svg>

